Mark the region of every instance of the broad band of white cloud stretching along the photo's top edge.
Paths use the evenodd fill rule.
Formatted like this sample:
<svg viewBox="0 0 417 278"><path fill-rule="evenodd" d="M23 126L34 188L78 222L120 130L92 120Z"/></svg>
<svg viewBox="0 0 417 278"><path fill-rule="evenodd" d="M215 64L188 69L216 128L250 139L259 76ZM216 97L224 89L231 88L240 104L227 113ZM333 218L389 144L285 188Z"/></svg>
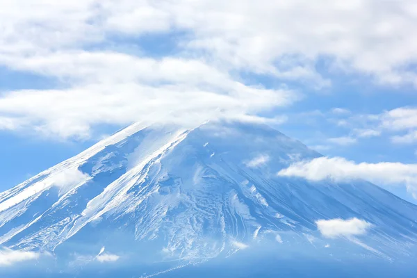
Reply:
<svg viewBox="0 0 417 278"><path fill-rule="evenodd" d="M261 0L258 5L237 0L227 5L208 0L181 0L175 5L170 1L157 5L133 0L117 4L76 0L63 5L32 1L22 9L25 3L8 1L2 6L1 25L7 27L0 37L3 52L73 47L106 40L106 34L114 33L185 31L193 34L180 42L188 51L204 50L234 67L284 78L326 83L313 67L322 55L336 58L340 69L372 74L377 81L413 82L414 77L414 72L401 67L416 58L412 0L383 5L377 0L349 5L341 0L320 0L318 6L326 7L320 9L306 0ZM299 24L286 26L283 22Z"/></svg>

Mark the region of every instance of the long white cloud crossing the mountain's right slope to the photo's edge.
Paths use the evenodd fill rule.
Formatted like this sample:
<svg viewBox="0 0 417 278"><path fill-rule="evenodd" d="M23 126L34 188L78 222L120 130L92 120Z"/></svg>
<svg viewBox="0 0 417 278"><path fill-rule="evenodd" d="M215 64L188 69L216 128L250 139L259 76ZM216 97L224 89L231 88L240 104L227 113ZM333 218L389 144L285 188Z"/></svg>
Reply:
<svg viewBox="0 0 417 278"><path fill-rule="evenodd" d="M366 179L386 186L405 185L413 197L417 197L417 164L403 163L354 163L341 157L320 157L311 161L293 163L278 172L279 176L302 177L311 181L332 179L347 181Z"/></svg>

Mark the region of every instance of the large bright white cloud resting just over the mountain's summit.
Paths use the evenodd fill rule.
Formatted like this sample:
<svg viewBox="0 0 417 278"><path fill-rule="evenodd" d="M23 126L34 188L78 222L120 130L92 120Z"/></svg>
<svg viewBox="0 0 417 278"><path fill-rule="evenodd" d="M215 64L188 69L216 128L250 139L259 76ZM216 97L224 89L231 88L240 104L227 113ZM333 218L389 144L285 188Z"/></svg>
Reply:
<svg viewBox="0 0 417 278"><path fill-rule="evenodd" d="M154 60L113 53L60 54L51 59L26 63L77 85L7 92L0 98L0 113L9 122L24 119L20 126L46 136L88 138L96 124L136 121L191 126L224 118L274 121L256 113L287 106L300 97L287 89L244 85L197 60ZM26 67L24 60L18 64ZM113 65L120 65L120 70L113 70Z"/></svg>

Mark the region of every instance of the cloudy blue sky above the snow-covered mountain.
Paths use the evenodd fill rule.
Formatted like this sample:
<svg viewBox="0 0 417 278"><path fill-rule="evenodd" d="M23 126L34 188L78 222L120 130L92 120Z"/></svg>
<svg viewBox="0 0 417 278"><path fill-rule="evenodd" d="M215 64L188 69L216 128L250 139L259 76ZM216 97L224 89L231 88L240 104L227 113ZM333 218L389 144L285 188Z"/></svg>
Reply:
<svg viewBox="0 0 417 278"><path fill-rule="evenodd" d="M232 119L416 202L415 1L17 2L0 8L0 190L131 122Z"/></svg>

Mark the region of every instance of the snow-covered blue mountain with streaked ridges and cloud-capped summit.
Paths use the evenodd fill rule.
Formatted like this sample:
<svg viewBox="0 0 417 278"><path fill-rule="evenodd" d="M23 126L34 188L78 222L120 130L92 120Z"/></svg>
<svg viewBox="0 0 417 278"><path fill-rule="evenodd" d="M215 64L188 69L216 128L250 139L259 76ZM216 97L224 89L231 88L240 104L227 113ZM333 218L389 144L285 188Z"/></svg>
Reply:
<svg viewBox="0 0 417 278"><path fill-rule="evenodd" d="M220 277L254 277L277 262L297 277L294 263L330 270L363 260L363 270L382 262L409 271L417 206L367 181L277 175L320 156L261 124L133 124L0 193L0 245L41 254L32 265L39 277L212 277L211 264ZM317 226L352 218L369 224L366 234L325 237ZM299 276L311 277L305 265ZM28 269L8 271L34 275Z"/></svg>

